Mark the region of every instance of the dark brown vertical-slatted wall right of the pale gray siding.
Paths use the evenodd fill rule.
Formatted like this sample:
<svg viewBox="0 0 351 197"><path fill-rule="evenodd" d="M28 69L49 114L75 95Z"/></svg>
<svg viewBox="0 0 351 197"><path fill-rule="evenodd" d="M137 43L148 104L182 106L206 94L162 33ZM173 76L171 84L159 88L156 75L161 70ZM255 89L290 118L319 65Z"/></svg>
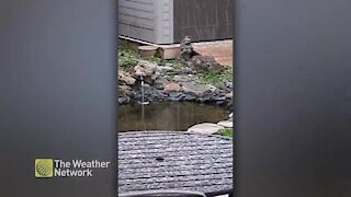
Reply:
<svg viewBox="0 0 351 197"><path fill-rule="evenodd" d="M233 38L234 0L174 0L174 42Z"/></svg>

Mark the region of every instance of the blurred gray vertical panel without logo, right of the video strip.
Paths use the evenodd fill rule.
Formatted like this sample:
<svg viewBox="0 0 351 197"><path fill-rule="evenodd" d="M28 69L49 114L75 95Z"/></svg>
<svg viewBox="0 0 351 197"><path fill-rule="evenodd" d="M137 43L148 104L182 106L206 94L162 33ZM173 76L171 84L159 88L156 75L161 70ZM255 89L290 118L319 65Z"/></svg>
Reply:
<svg viewBox="0 0 351 197"><path fill-rule="evenodd" d="M237 1L237 197L351 195L350 8Z"/></svg>

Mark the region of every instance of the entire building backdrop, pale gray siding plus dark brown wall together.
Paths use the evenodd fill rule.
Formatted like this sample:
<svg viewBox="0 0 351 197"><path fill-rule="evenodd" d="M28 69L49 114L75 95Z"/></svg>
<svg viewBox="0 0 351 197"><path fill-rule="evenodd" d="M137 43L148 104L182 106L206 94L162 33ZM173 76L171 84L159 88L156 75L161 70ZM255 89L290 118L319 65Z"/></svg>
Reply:
<svg viewBox="0 0 351 197"><path fill-rule="evenodd" d="M118 0L120 35L155 44L233 38L234 0Z"/></svg>

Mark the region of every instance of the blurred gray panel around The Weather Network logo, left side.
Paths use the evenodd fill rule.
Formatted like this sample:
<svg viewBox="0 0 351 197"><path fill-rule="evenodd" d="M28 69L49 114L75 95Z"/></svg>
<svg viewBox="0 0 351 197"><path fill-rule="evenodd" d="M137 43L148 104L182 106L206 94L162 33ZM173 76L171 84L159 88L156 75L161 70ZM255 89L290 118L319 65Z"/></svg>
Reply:
<svg viewBox="0 0 351 197"><path fill-rule="evenodd" d="M115 3L0 1L0 196L116 196ZM34 159L104 160L35 178Z"/></svg>

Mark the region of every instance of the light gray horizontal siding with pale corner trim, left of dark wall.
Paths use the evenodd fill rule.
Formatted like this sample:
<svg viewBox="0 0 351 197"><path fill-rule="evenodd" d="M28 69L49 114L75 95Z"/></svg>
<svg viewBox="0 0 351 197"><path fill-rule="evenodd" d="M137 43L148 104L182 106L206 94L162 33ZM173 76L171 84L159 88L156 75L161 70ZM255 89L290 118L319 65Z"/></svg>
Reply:
<svg viewBox="0 0 351 197"><path fill-rule="evenodd" d="M173 0L118 0L117 14L120 35L173 43Z"/></svg>

